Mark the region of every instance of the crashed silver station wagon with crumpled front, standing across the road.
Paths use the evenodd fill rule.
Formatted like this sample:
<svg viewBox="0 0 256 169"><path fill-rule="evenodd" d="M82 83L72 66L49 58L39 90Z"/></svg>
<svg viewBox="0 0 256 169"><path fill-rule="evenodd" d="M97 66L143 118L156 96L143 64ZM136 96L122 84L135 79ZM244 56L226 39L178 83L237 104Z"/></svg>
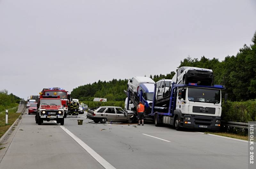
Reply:
<svg viewBox="0 0 256 169"><path fill-rule="evenodd" d="M136 116L133 111L124 110L121 107L102 106L88 109L87 118L95 123L129 122L132 123Z"/></svg>

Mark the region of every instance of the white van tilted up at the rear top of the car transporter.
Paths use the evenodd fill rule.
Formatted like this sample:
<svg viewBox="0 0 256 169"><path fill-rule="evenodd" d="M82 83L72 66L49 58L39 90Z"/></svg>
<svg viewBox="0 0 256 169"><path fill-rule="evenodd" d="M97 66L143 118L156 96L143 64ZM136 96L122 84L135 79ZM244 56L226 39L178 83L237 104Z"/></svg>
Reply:
<svg viewBox="0 0 256 169"><path fill-rule="evenodd" d="M132 79L130 79L128 81L127 88L128 88L128 90L132 91L132 93L137 93L141 83L156 84L156 82L153 81L153 79L151 79L149 77L134 76Z"/></svg>

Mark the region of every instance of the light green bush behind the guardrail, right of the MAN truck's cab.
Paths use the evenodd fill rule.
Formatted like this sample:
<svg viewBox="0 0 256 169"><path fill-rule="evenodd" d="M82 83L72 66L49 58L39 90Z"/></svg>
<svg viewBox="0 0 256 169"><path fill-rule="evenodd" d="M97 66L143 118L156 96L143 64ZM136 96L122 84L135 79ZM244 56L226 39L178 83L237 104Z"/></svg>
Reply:
<svg viewBox="0 0 256 169"><path fill-rule="evenodd" d="M248 123L256 121L256 99L244 102L222 103L222 120Z"/></svg>

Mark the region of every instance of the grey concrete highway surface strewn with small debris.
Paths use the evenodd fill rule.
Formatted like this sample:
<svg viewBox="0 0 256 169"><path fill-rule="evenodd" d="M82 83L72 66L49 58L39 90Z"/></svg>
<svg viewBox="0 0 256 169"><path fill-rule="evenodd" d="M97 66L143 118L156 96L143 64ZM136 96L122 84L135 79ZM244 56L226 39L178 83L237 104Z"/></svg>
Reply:
<svg viewBox="0 0 256 169"><path fill-rule="evenodd" d="M26 110L28 111L28 110ZM154 124L94 123L86 114L63 126L25 114L0 168L247 168L247 142ZM83 125L77 125L83 119Z"/></svg>

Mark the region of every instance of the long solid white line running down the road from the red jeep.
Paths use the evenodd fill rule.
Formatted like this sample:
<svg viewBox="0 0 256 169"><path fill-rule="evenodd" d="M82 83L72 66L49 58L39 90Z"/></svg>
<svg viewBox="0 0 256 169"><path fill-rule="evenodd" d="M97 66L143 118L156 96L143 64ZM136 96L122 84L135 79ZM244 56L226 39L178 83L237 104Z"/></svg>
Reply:
<svg viewBox="0 0 256 169"><path fill-rule="evenodd" d="M55 121L56 123L56 121ZM113 165L108 163L104 158L102 158L97 152L92 150L91 147L89 147L87 144L85 144L80 138L76 137L73 133L71 133L68 129L66 129L64 126L59 127L64 130L70 137L72 137L81 147L84 148L85 151L87 151L96 161L100 163L104 168L106 169L116 169Z"/></svg>

